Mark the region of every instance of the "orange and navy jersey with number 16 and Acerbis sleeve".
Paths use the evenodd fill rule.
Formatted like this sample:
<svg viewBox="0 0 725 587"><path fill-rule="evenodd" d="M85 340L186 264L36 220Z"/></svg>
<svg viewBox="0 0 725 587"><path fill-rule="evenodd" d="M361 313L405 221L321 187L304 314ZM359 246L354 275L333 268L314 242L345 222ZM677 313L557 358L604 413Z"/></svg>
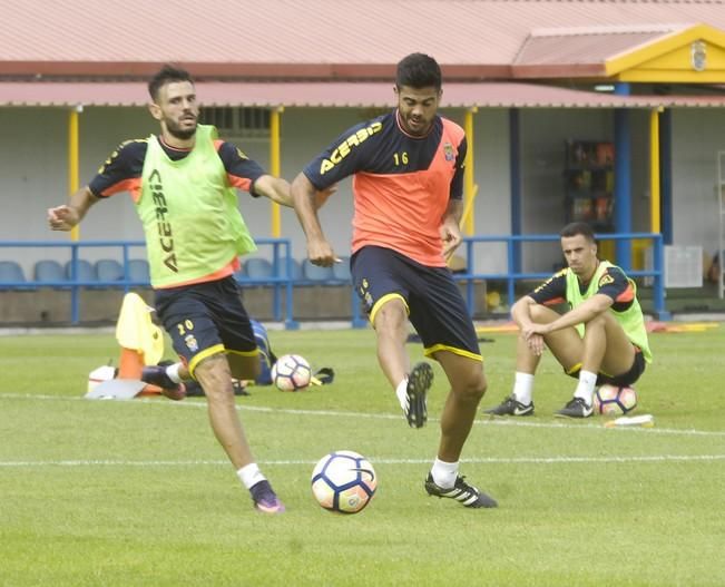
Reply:
<svg viewBox="0 0 725 587"><path fill-rule="evenodd" d="M316 189L353 176L352 252L392 248L427 266L445 266L440 226L463 193L463 129L437 116L411 136L398 110L347 129L304 168Z"/></svg>

